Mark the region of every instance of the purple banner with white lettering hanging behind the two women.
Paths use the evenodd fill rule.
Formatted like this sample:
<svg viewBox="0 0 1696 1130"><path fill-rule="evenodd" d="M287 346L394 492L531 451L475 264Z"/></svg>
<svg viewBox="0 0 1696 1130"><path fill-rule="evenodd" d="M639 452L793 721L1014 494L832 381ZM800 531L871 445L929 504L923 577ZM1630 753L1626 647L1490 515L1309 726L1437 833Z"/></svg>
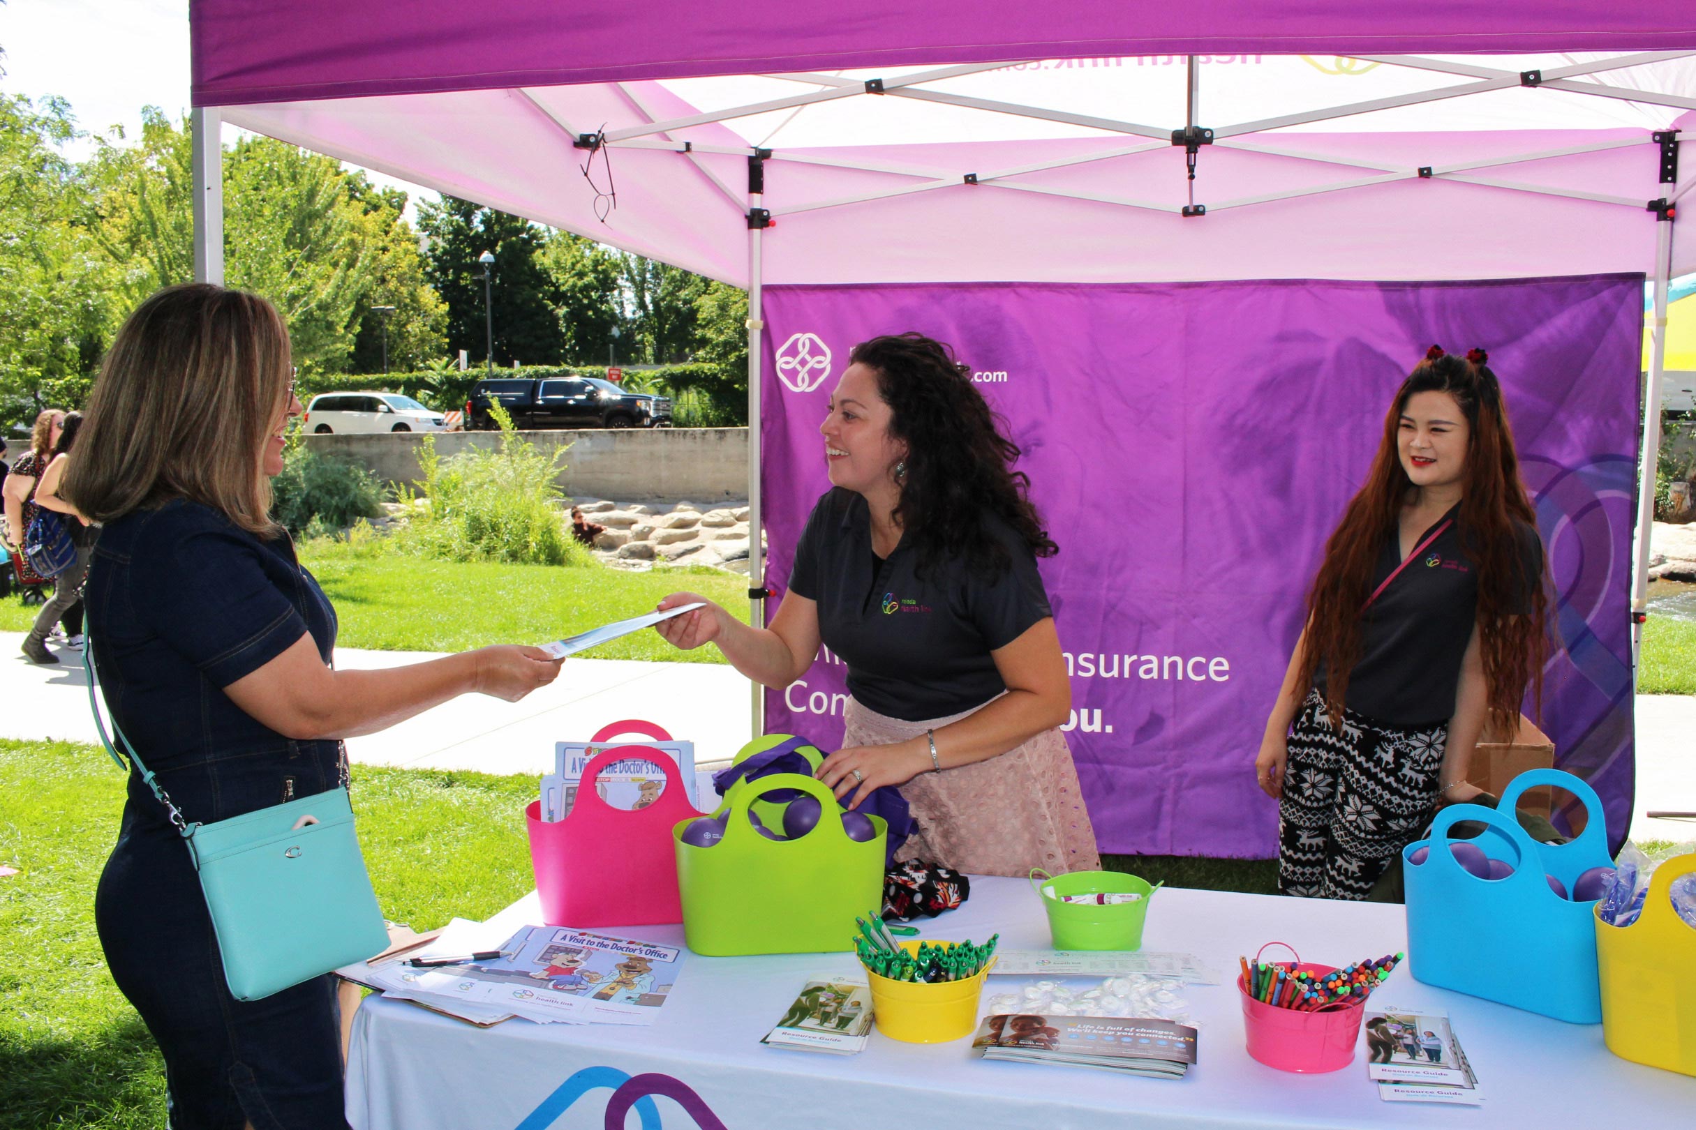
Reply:
<svg viewBox="0 0 1696 1130"><path fill-rule="evenodd" d="M848 352L902 330L950 342L1023 447L1060 546L1041 573L1101 849L1270 857L1277 805L1253 759L1319 552L1408 369L1431 342L1482 346L1557 590L1564 647L1537 718L1618 844L1633 788L1642 281L768 286L770 583L787 588L829 490L817 427ZM823 651L767 695L767 727L836 749L843 676Z"/></svg>

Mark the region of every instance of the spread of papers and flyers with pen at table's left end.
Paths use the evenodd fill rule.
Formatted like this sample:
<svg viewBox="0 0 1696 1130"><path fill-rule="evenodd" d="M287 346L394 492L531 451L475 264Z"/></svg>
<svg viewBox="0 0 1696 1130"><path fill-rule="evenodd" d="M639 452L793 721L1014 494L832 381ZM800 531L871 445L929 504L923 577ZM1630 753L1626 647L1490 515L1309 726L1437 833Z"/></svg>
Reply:
<svg viewBox="0 0 1696 1130"><path fill-rule="evenodd" d="M499 937L499 940L495 940ZM497 952L449 966L416 961ZM677 984L682 950L570 927L492 933L455 918L422 949L336 972L383 996L414 1001L475 1025L512 1016L536 1023L650 1025Z"/></svg>

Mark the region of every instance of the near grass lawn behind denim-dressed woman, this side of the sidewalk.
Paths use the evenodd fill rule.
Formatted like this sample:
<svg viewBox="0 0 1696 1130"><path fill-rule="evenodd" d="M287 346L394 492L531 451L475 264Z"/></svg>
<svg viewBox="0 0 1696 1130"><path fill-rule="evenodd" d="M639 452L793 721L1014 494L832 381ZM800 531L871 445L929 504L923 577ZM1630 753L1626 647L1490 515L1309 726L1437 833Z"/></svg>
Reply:
<svg viewBox="0 0 1696 1130"><path fill-rule="evenodd" d="M360 840L383 913L419 928L487 918L531 888L534 778L354 771ZM95 745L0 740L0 1130L154 1130L165 1069L112 984L95 883L124 776Z"/></svg>

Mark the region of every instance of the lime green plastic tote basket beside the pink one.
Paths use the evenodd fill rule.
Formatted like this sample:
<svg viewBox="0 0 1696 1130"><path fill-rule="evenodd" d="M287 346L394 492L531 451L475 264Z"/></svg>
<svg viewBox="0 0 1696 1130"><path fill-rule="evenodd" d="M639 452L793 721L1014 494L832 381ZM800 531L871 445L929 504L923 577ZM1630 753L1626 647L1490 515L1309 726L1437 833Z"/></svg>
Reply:
<svg viewBox="0 0 1696 1130"><path fill-rule="evenodd" d="M768 840L748 822L762 796L797 789L817 798L817 825L794 840ZM712 815L724 839L711 847L683 842L689 820L672 828L677 889L683 900L683 937L707 957L746 954L831 954L853 949L856 917L884 905L884 840L889 825L865 844L848 839L843 810L824 784L799 773L738 781ZM782 827L782 822L767 822Z"/></svg>

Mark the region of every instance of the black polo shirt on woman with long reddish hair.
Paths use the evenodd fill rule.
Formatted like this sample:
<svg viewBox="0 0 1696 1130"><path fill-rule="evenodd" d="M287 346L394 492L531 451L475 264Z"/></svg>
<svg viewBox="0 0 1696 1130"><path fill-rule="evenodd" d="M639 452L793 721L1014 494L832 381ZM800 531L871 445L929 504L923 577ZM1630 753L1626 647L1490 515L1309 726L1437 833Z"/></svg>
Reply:
<svg viewBox="0 0 1696 1130"><path fill-rule="evenodd" d="M1420 534L1414 546L1453 518L1360 613L1360 662L1348 676L1345 693L1345 705L1355 713L1398 727L1447 722L1455 713L1460 662L1477 622L1479 598L1476 566L1462 549L1459 513L1457 503ZM1523 522L1515 522L1515 537L1521 590L1513 612L1526 613L1543 574L1543 542ZM1372 571L1372 590L1398 564L1401 537L1398 530L1391 530ZM1314 683L1325 688L1323 664Z"/></svg>

